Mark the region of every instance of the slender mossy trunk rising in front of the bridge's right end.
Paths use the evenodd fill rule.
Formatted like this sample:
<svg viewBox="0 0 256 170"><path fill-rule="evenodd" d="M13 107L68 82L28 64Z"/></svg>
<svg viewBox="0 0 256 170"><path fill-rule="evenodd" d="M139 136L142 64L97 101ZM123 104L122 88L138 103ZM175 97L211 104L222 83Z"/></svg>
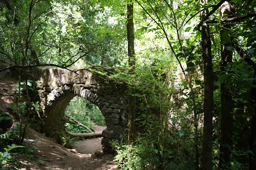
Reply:
<svg viewBox="0 0 256 170"><path fill-rule="evenodd" d="M135 52L134 52L134 24L133 24L133 3L127 5L127 40L128 40L128 62L130 73L134 73L135 69ZM129 114L128 114L128 144L132 143L134 139L134 119L136 116L136 99L135 89L130 87L130 94L128 96Z"/></svg>

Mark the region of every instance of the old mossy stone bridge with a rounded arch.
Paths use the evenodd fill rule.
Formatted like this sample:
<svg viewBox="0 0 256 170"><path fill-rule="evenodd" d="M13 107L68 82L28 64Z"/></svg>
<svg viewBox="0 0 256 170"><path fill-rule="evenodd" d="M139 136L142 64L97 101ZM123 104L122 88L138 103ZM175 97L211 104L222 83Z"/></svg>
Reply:
<svg viewBox="0 0 256 170"><path fill-rule="evenodd" d="M42 132L56 139L59 130L64 128L64 111L70 100L75 96L84 97L97 105L105 117L107 128L102 132L102 145L105 152L110 152L109 141L120 140L127 133L126 85L106 83L100 74L83 67L72 71L52 67L41 67L36 71L34 80L37 80Z"/></svg>

